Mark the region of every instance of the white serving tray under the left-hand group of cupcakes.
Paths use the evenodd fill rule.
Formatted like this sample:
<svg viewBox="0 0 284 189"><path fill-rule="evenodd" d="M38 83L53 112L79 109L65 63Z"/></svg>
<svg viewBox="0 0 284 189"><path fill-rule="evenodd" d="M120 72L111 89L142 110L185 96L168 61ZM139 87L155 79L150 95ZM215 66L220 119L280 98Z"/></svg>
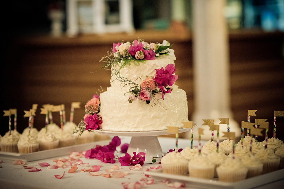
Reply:
<svg viewBox="0 0 284 189"><path fill-rule="evenodd" d="M22 160L25 162L37 161L48 159L51 157L58 157L63 155L69 155L71 152L82 152L88 149L93 148L95 145L106 145L109 144L110 140L96 141L85 144L78 144L67 147L60 147L49 150L42 150L38 152L33 152L29 154L20 154L14 152L1 152L0 151L0 160Z"/></svg>

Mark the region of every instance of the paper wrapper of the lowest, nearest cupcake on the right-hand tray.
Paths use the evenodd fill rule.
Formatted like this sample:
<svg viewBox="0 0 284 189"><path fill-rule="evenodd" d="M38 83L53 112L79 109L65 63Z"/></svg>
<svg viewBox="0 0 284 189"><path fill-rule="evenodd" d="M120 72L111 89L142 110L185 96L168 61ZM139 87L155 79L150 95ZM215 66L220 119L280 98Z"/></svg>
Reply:
<svg viewBox="0 0 284 189"><path fill-rule="evenodd" d="M243 171L243 169L241 171L227 171L227 170L220 170L219 167L217 168L217 174L218 174L218 178L220 181L223 182L238 182L240 180L244 180L246 179L248 170Z"/></svg>

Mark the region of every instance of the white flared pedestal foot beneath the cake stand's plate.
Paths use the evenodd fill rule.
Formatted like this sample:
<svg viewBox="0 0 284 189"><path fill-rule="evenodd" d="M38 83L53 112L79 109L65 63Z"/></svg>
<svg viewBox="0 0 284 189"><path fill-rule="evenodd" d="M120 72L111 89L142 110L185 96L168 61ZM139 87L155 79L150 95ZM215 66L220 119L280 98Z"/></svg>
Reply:
<svg viewBox="0 0 284 189"><path fill-rule="evenodd" d="M153 157L162 157L163 152L157 136L131 137L127 153L145 152L145 164L152 163Z"/></svg>

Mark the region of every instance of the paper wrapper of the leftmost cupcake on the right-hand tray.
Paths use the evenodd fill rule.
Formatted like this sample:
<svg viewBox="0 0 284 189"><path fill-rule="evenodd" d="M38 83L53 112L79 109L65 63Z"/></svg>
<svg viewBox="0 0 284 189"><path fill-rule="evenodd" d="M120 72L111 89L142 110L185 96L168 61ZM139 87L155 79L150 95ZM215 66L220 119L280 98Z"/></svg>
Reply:
<svg viewBox="0 0 284 189"><path fill-rule="evenodd" d="M188 173L188 163L173 163L173 164L162 164L163 173L170 173L174 175L186 175Z"/></svg>

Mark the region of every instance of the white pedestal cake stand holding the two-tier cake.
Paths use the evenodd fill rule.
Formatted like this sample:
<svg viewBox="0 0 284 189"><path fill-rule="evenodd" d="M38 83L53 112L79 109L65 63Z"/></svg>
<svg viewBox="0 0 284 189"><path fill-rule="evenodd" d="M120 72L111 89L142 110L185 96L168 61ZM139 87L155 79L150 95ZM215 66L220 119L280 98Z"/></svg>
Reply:
<svg viewBox="0 0 284 189"><path fill-rule="evenodd" d="M196 126L196 123L194 123ZM181 128L178 130L179 133L187 132L190 128ZM119 137L131 137L127 153L131 156L133 152L145 152L145 164L152 163L153 157L161 158L164 154L162 152L161 145L159 143L158 137L161 135L173 134L167 132L167 130L157 130L157 131L109 131L109 130L96 130L100 134L105 134L109 136L119 136ZM157 161L158 163L159 161Z"/></svg>

